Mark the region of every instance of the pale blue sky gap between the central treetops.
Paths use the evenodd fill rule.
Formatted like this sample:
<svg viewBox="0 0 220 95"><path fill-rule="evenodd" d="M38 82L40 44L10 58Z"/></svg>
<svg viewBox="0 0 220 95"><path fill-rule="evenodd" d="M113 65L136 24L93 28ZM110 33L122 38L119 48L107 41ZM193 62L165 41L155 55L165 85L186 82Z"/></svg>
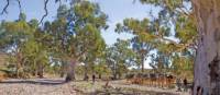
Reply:
<svg viewBox="0 0 220 95"><path fill-rule="evenodd" d="M148 16L151 8L143 5L140 2L133 3L133 0L92 0L100 3L101 10L109 15L108 24L110 27L102 35L108 45L116 43L119 38L130 38L129 34L116 34L114 28L117 23L121 23L127 17L143 19Z"/></svg>

